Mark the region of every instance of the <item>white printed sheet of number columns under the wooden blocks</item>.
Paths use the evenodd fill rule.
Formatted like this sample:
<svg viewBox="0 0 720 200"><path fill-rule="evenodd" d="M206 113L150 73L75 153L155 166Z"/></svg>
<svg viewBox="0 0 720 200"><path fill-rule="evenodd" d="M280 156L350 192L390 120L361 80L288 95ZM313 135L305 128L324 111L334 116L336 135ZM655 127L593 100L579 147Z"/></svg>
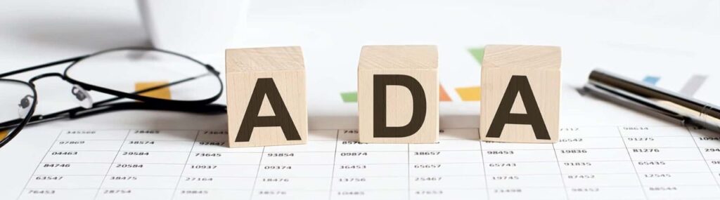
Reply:
<svg viewBox="0 0 720 200"><path fill-rule="evenodd" d="M47 131L47 130L46 130ZM227 132L63 129L18 199L718 199L720 138L671 126L564 127L556 144L361 144L353 129L307 145L225 147ZM27 132L24 134L37 134ZM6 162L6 161L4 161Z"/></svg>

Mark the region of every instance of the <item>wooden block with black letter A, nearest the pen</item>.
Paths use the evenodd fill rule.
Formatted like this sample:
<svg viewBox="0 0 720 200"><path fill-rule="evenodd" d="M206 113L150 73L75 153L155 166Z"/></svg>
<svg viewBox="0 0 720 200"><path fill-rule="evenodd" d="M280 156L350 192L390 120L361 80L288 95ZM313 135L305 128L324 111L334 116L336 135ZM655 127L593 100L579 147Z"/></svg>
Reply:
<svg viewBox="0 0 720 200"><path fill-rule="evenodd" d="M557 142L560 47L487 45L480 81L482 140Z"/></svg>

